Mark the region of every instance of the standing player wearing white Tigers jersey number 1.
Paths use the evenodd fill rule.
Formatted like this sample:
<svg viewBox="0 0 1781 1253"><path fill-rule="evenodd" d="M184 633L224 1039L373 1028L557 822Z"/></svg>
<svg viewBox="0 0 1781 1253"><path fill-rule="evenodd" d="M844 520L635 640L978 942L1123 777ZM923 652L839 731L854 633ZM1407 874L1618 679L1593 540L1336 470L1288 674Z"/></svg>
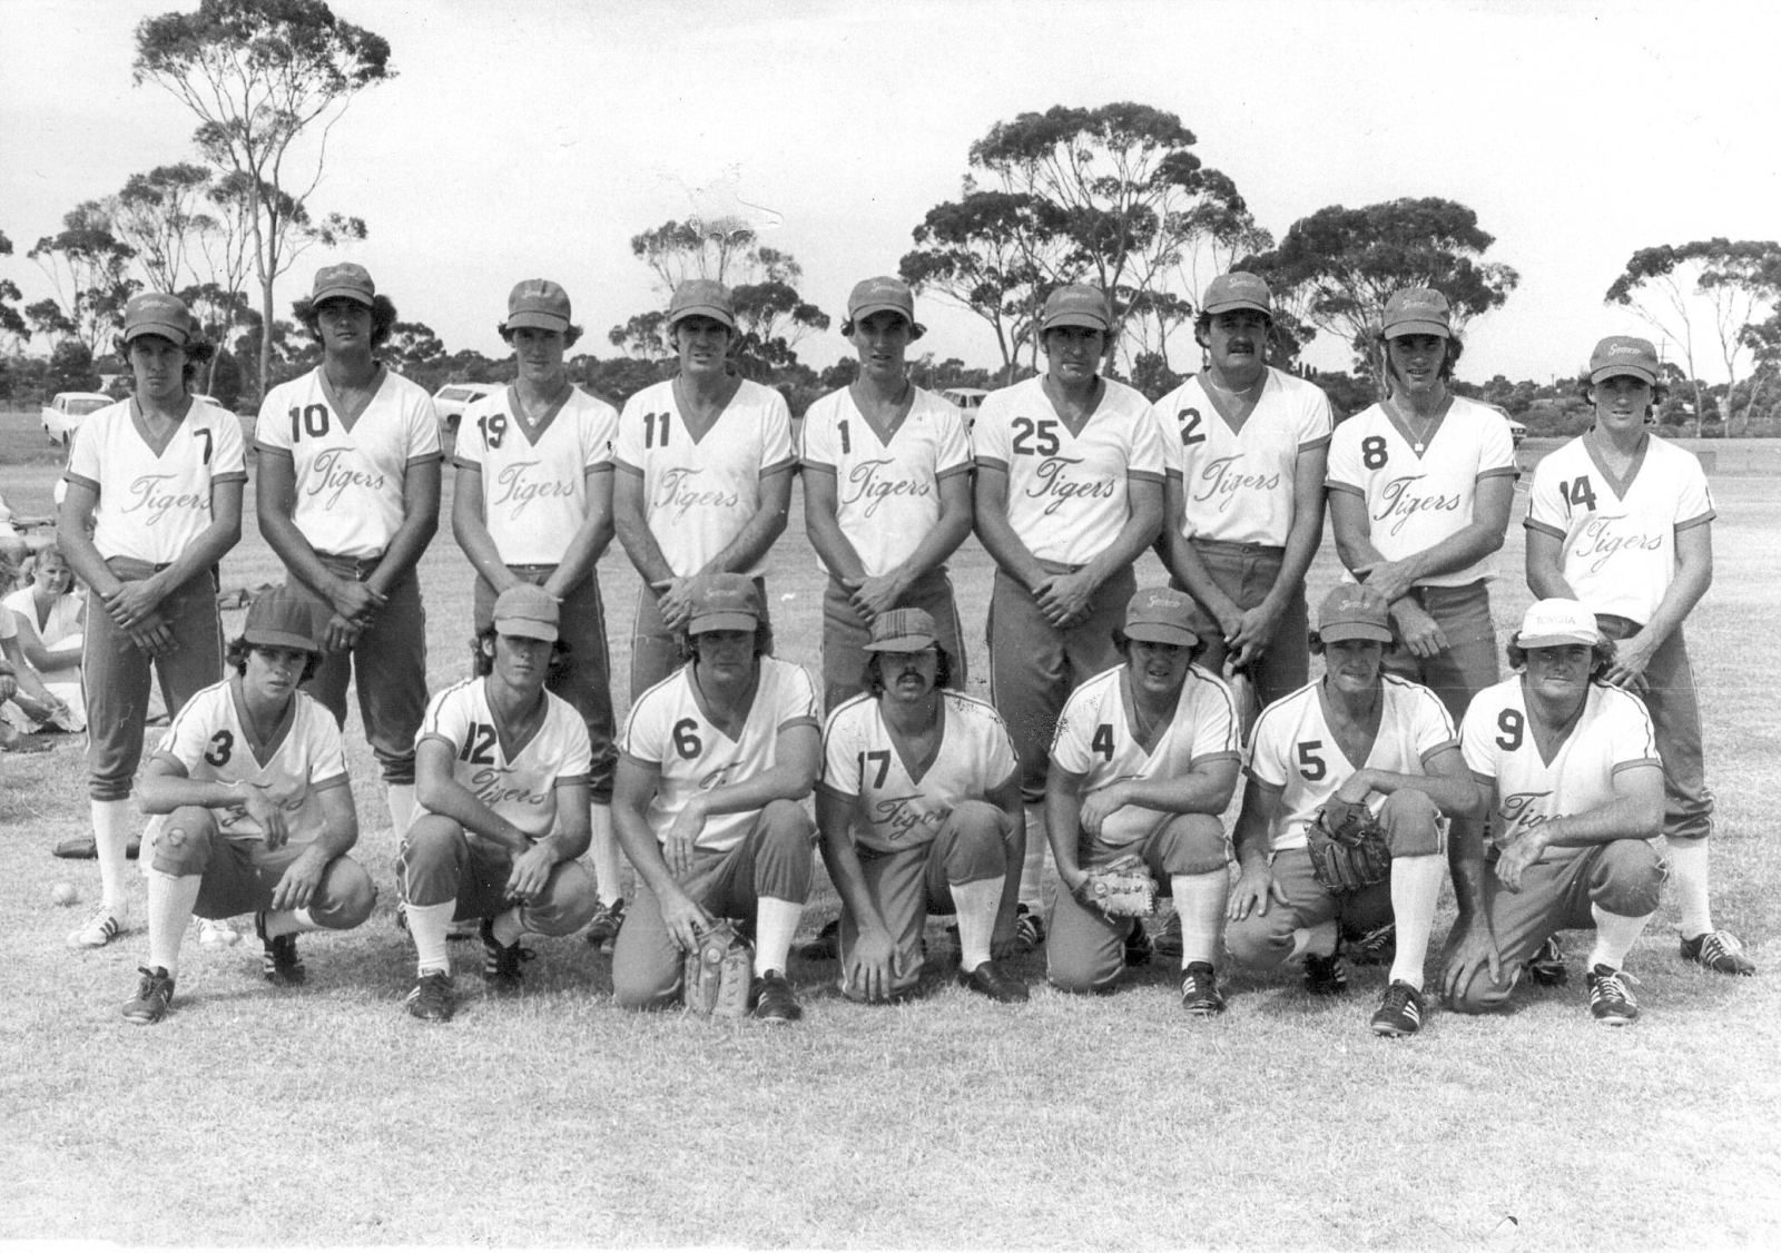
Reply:
<svg viewBox="0 0 1781 1253"><path fill-rule="evenodd" d="M823 570L823 703L866 691L866 639L878 614L914 605L933 618L965 689L965 653L946 559L971 534L971 443L964 415L908 381L905 354L923 327L894 278L848 297L841 333L860 377L803 415L803 521Z"/></svg>

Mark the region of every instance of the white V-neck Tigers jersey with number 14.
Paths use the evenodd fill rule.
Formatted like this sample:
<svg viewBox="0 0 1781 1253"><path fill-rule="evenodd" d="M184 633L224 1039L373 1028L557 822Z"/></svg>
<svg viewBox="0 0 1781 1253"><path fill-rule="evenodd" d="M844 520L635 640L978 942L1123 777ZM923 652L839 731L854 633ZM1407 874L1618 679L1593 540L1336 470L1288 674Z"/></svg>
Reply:
<svg viewBox="0 0 1781 1253"><path fill-rule="evenodd" d="M1558 568L1578 600L1644 625L1676 578L1676 532L1712 520L1713 497L1692 452L1647 434L1619 481L1578 436L1533 470L1525 525L1564 541Z"/></svg>

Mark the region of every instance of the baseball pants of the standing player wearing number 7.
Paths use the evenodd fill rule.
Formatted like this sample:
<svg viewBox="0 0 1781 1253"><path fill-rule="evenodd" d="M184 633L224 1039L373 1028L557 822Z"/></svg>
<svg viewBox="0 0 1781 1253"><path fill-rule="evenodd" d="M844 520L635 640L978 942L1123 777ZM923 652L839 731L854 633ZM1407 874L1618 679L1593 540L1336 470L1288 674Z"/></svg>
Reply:
<svg viewBox="0 0 1781 1253"><path fill-rule="evenodd" d="M107 568L125 582L148 578L155 566L112 557ZM164 570L164 566L162 566ZM87 792L94 801L123 801L142 762L148 721L150 666L169 712L178 712L203 687L223 678L223 618L217 614L214 570L192 575L157 607L175 648L150 657L130 643L98 596L87 593L87 635L80 650L80 682L87 703Z"/></svg>

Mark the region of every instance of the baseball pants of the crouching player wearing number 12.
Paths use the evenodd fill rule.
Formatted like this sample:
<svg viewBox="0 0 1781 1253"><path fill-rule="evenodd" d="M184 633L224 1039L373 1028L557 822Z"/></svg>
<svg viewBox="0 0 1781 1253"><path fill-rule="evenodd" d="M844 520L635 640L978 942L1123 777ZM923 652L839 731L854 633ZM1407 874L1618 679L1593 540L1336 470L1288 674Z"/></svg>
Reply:
<svg viewBox="0 0 1781 1253"><path fill-rule="evenodd" d="M408 828L397 872L410 904L454 901L452 922L493 918L518 904L508 895L513 853L440 813L422 812ZM520 906L520 926L541 936L566 936L586 927L598 908L600 893L588 867L557 861L543 892Z"/></svg>

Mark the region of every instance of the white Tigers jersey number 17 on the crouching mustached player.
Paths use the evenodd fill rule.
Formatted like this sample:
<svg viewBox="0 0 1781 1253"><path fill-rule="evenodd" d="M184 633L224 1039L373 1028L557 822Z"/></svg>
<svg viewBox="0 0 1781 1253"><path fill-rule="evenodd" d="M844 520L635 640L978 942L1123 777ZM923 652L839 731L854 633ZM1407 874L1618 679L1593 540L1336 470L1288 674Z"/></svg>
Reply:
<svg viewBox="0 0 1781 1253"><path fill-rule="evenodd" d="M983 801L1013 780L1019 764L1001 714L964 692L940 692L940 749L914 778L885 728L878 698L860 694L823 728L823 787L858 797L853 840L896 853L933 844L960 801Z"/></svg>

